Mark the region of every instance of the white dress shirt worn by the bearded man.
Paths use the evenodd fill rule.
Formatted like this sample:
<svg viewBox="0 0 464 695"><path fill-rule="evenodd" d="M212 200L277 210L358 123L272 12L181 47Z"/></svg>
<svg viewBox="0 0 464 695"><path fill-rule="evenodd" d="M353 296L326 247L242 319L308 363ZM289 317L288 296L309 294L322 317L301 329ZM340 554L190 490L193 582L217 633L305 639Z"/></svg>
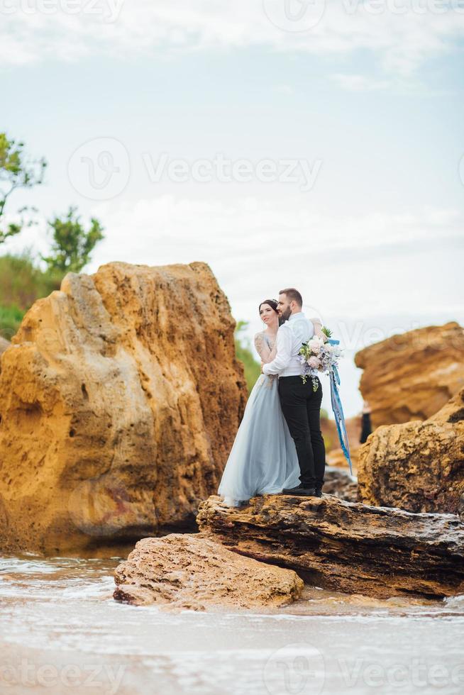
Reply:
<svg viewBox="0 0 464 695"><path fill-rule="evenodd" d="M264 374L279 374L279 377L299 377L303 373L299 351L314 335L314 325L302 311L292 313L288 321L277 330L277 355L264 365Z"/></svg>

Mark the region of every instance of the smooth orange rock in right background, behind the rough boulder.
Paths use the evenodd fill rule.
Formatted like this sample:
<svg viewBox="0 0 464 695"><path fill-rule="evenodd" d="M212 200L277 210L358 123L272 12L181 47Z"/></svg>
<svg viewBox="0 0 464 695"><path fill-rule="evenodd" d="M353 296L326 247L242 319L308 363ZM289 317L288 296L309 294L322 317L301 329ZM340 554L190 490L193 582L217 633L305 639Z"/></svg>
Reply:
<svg viewBox="0 0 464 695"><path fill-rule="evenodd" d="M372 427L426 420L464 387L464 330L458 323L410 330L355 355Z"/></svg>

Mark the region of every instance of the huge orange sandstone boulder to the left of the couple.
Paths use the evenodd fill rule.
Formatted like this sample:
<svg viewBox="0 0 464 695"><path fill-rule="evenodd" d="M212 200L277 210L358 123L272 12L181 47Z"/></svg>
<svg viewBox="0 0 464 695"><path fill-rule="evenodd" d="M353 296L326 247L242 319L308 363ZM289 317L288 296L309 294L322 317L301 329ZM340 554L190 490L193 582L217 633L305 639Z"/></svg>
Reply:
<svg viewBox="0 0 464 695"><path fill-rule="evenodd" d="M1 547L194 523L245 406L233 330L203 263L111 263L35 302L1 358Z"/></svg>

